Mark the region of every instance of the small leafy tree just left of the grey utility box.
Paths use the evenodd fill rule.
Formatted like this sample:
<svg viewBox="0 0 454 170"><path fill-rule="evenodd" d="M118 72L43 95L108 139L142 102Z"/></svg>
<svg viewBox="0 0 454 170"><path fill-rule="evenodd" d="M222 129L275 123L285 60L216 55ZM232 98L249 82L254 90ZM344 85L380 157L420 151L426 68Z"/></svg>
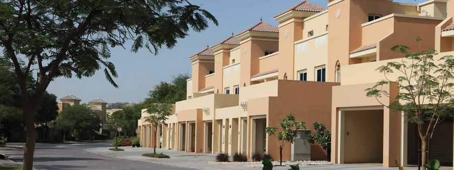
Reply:
<svg viewBox="0 0 454 170"><path fill-rule="evenodd" d="M295 142L295 137L298 136L298 130L306 129L306 123L304 121L297 122L295 116L287 114L279 122L280 132L277 132L276 127L266 127L265 132L269 135L274 135L277 132L277 140L281 141L279 146L280 165L282 165L282 147L285 142Z"/></svg>

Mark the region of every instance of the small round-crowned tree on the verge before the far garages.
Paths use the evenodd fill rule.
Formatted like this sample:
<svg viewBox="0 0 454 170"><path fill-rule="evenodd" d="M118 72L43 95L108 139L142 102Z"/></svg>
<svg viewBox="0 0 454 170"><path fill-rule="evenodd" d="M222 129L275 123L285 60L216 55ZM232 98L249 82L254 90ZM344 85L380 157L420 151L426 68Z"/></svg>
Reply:
<svg viewBox="0 0 454 170"><path fill-rule="evenodd" d="M163 124L168 116L172 115L172 105L160 103L148 105L147 112L150 116L145 118L145 121L150 122L154 126L154 139L157 141L156 129ZM156 142L154 142L153 153L156 153Z"/></svg>

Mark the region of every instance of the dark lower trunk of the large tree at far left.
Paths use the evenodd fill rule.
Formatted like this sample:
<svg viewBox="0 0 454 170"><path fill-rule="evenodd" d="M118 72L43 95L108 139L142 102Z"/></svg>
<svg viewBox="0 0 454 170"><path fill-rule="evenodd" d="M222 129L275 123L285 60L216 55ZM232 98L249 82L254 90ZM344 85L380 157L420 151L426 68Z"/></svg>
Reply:
<svg viewBox="0 0 454 170"><path fill-rule="evenodd" d="M35 152L36 144L36 129L33 121L33 111L30 106L24 106L24 123L26 128L26 143L23 156L23 169L33 169L33 154Z"/></svg>

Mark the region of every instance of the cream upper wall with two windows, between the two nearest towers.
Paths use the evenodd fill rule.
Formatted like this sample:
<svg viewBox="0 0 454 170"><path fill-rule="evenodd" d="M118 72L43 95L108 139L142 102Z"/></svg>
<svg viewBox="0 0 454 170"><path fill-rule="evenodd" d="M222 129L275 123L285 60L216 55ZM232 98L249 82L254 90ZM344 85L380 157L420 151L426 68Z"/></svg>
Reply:
<svg viewBox="0 0 454 170"><path fill-rule="evenodd" d="M308 81L316 80L314 78L315 68L326 65L327 62L328 33L315 35L313 38L303 39L295 43L295 80L299 79L298 72L302 70L307 71Z"/></svg>

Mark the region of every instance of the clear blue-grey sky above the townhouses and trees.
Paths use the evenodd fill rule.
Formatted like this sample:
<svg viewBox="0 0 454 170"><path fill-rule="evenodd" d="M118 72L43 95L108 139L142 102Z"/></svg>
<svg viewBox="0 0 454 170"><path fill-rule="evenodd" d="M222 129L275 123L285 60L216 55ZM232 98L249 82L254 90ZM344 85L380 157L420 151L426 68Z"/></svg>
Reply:
<svg viewBox="0 0 454 170"><path fill-rule="evenodd" d="M101 98L108 103L140 102L148 96L148 92L160 81L171 81L173 76L180 73L191 74L191 62L188 57L214 45L257 23L260 18L264 22L277 26L273 16L284 11L301 0L192 0L192 4L201 6L213 14L218 26L213 24L202 32L189 32L185 39L179 39L173 49L162 48L157 55L142 49L137 53L130 51L131 42L125 45L126 49L111 49L111 58L119 74L115 81L119 88L114 88L105 79L102 69L92 77L81 79L58 78L52 81L47 88L49 93L59 99L73 94L87 103ZM326 7L326 0L308 0ZM400 3L421 3L424 0L394 0Z"/></svg>

